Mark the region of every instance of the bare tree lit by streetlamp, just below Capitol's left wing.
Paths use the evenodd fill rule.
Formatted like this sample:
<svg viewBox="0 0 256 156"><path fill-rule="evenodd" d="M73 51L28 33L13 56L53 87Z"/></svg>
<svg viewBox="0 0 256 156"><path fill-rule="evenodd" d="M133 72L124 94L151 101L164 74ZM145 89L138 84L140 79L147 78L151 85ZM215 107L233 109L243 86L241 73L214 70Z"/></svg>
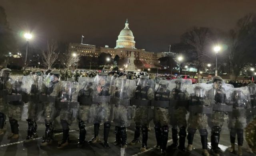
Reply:
<svg viewBox="0 0 256 156"><path fill-rule="evenodd" d="M79 55L73 56L73 53L69 50L61 53L60 55L60 62L64 64L68 69L70 69L72 66L77 66L79 61Z"/></svg>

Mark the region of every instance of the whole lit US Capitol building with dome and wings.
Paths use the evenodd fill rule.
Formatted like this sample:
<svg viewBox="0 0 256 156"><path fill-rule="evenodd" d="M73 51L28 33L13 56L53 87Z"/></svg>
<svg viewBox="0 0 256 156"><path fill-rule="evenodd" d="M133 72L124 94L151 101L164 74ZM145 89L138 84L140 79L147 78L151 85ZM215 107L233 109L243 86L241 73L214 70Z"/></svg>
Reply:
<svg viewBox="0 0 256 156"><path fill-rule="evenodd" d="M116 47L110 48L108 45L96 47L96 45L70 43L69 50L79 55L90 57L98 57L100 53L109 53L112 58L118 55L120 59L124 60L130 58L133 52L134 59L140 59L145 67L154 67L154 64L158 63L157 59L164 57L166 54L166 52L154 53L145 51L145 49L136 49L135 43L132 30L130 30L128 20L126 19L124 29L121 30L116 40Z"/></svg>

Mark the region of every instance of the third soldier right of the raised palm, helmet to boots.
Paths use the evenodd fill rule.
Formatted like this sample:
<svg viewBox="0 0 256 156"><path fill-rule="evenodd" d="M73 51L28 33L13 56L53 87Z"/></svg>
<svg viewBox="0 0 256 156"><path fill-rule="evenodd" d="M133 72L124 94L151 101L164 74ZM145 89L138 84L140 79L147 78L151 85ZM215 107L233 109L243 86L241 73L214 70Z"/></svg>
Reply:
<svg viewBox="0 0 256 156"><path fill-rule="evenodd" d="M155 88L154 98L154 128L156 133L157 148L161 153L166 153L166 145L169 132L169 103L170 103L170 84L166 80L161 80Z"/></svg>

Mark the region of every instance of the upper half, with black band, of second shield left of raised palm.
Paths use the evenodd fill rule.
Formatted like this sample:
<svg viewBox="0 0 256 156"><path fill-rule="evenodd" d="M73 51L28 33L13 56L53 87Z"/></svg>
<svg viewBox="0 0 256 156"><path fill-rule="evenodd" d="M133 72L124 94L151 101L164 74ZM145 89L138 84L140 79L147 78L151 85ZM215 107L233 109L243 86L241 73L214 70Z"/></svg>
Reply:
<svg viewBox="0 0 256 156"><path fill-rule="evenodd" d="M61 81L58 105L60 109L76 109L78 107L79 83L75 81Z"/></svg>

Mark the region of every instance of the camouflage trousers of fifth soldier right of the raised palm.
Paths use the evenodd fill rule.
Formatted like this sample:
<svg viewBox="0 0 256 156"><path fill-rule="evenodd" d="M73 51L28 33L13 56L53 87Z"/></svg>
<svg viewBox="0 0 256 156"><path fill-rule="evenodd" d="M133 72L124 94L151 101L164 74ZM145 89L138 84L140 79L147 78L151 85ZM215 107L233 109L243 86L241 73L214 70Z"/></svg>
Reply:
<svg viewBox="0 0 256 156"><path fill-rule="evenodd" d="M188 118L188 128L195 130L207 128L207 116L201 113L190 113Z"/></svg>

